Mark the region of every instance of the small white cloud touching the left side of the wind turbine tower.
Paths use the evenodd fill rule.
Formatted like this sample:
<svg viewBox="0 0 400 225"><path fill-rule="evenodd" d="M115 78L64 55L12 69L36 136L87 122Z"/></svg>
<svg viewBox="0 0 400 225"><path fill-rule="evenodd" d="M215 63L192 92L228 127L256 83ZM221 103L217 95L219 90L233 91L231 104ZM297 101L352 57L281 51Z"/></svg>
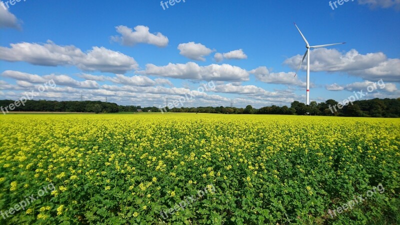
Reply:
<svg viewBox="0 0 400 225"><path fill-rule="evenodd" d="M305 82L298 79L298 76L294 76L294 72L269 72L267 67L260 66L250 70L249 73L254 74L256 79L265 83L288 84L301 87L306 85Z"/></svg>

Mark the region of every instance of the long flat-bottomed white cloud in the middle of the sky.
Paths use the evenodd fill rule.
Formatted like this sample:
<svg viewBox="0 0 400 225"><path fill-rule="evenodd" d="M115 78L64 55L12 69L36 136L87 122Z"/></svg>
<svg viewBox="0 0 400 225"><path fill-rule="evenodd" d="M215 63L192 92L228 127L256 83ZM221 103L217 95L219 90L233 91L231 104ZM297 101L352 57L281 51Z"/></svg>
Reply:
<svg viewBox="0 0 400 225"><path fill-rule="evenodd" d="M195 62L187 62L186 64L169 63L168 65L164 66L146 64L146 69L138 71L138 73L180 78L180 79L196 79L196 80L207 80L207 81L248 80L248 72L245 69L229 64L222 64L222 65L210 64L206 66L199 66Z"/></svg>

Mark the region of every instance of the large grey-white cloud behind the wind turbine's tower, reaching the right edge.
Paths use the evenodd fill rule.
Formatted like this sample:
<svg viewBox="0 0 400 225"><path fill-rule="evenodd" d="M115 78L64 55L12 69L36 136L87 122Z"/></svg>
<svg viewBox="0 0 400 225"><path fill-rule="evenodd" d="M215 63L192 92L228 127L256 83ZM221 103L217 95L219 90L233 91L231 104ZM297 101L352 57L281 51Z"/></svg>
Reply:
<svg viewBox="0 0 400 225"><path fill-rule="evenodd" d="M302 55L287 58L284 63L292 69L300 64ZM306 61L306 59L305 59ZM301 68L306 69L306 63ZM336 49L317 48L310 53L310 70L346 72L365 80L400 81L400 59L387 58L382 52L360 54L355 49L341 53Z"/></svg>

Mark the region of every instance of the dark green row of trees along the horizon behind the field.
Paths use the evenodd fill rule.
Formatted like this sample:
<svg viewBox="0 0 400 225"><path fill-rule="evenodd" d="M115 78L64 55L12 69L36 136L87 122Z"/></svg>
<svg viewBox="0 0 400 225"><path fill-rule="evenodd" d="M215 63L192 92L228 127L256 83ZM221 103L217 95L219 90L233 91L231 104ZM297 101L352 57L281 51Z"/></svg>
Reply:
<svg viewBox="0 0 400 225"><path fill-rule="evenodd" d="M24 105L11 107L13 100L0 100L1 110L5 111L49 111L49 112L137 112L151 111L160 112L157 107L141 107L135 105L117 105L116 103L102 101L47 101L27 100ZM284 115L326 115L326 116L363 116L363 117L400 117L400 98L357 100L348 105L339 105L333 99L317 103L311 101L305 105L299 101L293 101L290 107L287 106L265 106L253 108L247 105L245 108L236 107L180 107L165 108L166 112L195 112L195 113L223 113L223 114L284 114ZM163 109L163 110L165 110ZM165 112L165 111L163 111Z"/></svg>

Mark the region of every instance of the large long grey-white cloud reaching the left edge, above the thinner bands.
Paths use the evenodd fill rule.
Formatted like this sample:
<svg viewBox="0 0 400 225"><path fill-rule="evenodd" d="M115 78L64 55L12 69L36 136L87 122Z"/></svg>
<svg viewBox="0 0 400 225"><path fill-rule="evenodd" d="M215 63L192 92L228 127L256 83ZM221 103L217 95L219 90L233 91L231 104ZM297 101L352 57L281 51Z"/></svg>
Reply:
<svg viewBox="0 0 400 225"><path fill-rule="evenodd" d="M87 53L73 45L60 46L51 40L45 44L20 42L0 47L0 59L25 61L34 65L74 65L84 71L125 73L137 69L138 64L121 52L104 47L92 47Z"/></svg>

